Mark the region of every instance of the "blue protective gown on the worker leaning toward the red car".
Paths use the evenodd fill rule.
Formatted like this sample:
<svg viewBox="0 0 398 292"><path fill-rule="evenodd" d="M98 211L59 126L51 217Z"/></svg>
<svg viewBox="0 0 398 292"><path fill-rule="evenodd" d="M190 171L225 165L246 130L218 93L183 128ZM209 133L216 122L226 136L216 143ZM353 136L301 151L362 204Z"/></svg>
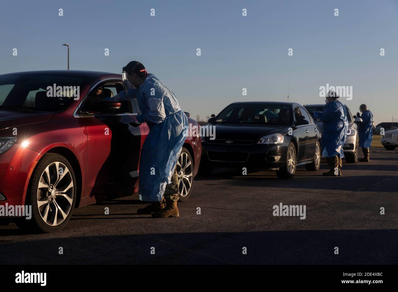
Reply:
<svg viewBox="0 0 398 292"><path fill-rule="evenodd" d="M141 149L139 168L139 198L142 201L162 201L187 137L188 119L174 93L153 74L148 74L137 89L120 92L116 101L137 98L141 114L137 120L146 122L149 134ZM153 168L151 170L151 168Z"/></svg>

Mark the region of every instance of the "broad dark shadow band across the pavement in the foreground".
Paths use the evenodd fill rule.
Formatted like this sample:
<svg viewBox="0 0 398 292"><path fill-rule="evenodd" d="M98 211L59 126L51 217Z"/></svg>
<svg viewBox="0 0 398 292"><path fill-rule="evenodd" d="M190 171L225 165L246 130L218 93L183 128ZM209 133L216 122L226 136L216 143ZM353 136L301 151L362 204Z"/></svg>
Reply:
<svg viewBox="0 0 398 292"><path fill-rule="evenodd" d="M59 233L62 235L62 232ZM82 236L0 243L0 264L398 264L397 229ZM63 254L59 254L59 248ZM151 248L155 254L151 254ZM242 248L247 254L242 254ZM339 254L334 254L334 248Z"/></svg>

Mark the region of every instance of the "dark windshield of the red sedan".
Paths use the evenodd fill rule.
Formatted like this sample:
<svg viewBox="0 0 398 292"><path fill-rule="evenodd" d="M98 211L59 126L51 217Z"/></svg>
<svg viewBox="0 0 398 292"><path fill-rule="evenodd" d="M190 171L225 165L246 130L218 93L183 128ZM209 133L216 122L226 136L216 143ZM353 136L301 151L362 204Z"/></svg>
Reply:
<svg viewBox="0 0 398 292"><path fill-rule="evenodd" d="M61 110L80 98L80 87L87 79L70 75L0 75L0 109Z"/></svg>

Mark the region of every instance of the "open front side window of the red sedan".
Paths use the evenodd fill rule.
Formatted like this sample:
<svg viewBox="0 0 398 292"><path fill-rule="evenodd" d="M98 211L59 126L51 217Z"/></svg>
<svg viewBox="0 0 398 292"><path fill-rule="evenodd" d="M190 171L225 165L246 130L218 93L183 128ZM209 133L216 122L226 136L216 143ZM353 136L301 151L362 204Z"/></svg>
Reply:
<svg viewBox="0 0 398 292"><path fill-rule="evenodd" d="M112 101L113 97L117 95L118 91L121 91L123 86L119 83L105 83L98 85L94 88L94 90L90 91L88 97L84 101L82 109L90 110L91 104L96 101ZM120 101L121 107L117 112L113 112L112 114L127 114L131 113L130 109L130 101Z"/></svg>

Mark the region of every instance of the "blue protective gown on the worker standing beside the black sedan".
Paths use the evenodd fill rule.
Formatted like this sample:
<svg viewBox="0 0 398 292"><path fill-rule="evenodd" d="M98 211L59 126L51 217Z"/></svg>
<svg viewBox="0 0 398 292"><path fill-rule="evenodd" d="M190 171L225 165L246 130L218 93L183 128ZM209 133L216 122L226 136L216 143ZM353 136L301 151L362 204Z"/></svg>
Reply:
<svg viewBox="0 0 398 292"><path fill-rule="evenodd" d="M331 101L325 104L323 111L316 114L322 124L321 148L322 156L344 157L343 145L347 137L348 120L345 106L339 102Z"/></svg>

